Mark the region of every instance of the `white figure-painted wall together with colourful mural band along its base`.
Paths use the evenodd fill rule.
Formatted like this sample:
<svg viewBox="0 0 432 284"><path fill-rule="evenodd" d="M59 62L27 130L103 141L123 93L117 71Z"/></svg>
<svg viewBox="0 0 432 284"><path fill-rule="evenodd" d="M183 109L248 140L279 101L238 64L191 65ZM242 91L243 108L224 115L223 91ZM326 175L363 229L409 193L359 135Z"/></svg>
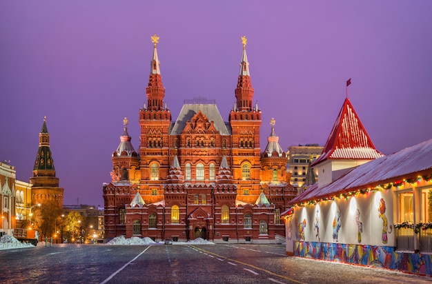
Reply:
<svg viewBox="0 0 432 284"><path fill-rule="evenodd" d="M432 255L395 251L392 194L378 190L295 207L286 219L287 252L432 275Z"/></svg>

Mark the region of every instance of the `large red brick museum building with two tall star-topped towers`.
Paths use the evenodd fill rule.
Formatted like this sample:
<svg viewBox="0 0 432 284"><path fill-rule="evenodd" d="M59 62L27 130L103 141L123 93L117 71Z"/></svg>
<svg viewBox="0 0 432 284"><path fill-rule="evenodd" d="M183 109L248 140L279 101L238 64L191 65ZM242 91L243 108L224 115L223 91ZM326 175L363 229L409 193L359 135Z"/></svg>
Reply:
<svg viewBox="0 0 432 284"><path fill-rule="evenodd" d="M152 37L147 102L139 110L139 150L132 146L125 118L112 153L111 181L103 185L106 241L124 235L282 243L279 214L297 189L289 183L273 119L263 152L259 145L262 112L253 103L246 38L228 122L215 101L204 99L185 101L172 121L164 102L158 39Z"/></svg>

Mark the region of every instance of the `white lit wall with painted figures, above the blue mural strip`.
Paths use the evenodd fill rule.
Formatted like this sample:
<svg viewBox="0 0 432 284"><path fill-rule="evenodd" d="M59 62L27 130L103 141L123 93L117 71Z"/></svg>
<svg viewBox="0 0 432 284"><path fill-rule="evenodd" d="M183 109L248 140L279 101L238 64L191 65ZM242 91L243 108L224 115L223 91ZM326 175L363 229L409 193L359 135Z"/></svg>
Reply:
<svg viewBox="0 0 432 284"><path fill-rule="evenodd" d="M348 199L295 207L291 224L287 224L287 236L295 237L295 241L394 247L393 199L389 194L360 193Z"/></svg>

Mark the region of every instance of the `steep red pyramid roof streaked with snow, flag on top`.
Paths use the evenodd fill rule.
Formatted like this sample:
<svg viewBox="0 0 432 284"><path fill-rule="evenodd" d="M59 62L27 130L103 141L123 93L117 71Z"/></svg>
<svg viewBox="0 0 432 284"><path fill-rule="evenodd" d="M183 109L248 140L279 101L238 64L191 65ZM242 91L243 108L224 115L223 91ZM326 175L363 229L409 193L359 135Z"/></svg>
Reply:
<svg viewBox="0 0 432 284"><path fill-rule="evenodd" d="M337 116L321 156L312 167L327 159L371 160L384 156L376 150L348 98Z"/></svg>

